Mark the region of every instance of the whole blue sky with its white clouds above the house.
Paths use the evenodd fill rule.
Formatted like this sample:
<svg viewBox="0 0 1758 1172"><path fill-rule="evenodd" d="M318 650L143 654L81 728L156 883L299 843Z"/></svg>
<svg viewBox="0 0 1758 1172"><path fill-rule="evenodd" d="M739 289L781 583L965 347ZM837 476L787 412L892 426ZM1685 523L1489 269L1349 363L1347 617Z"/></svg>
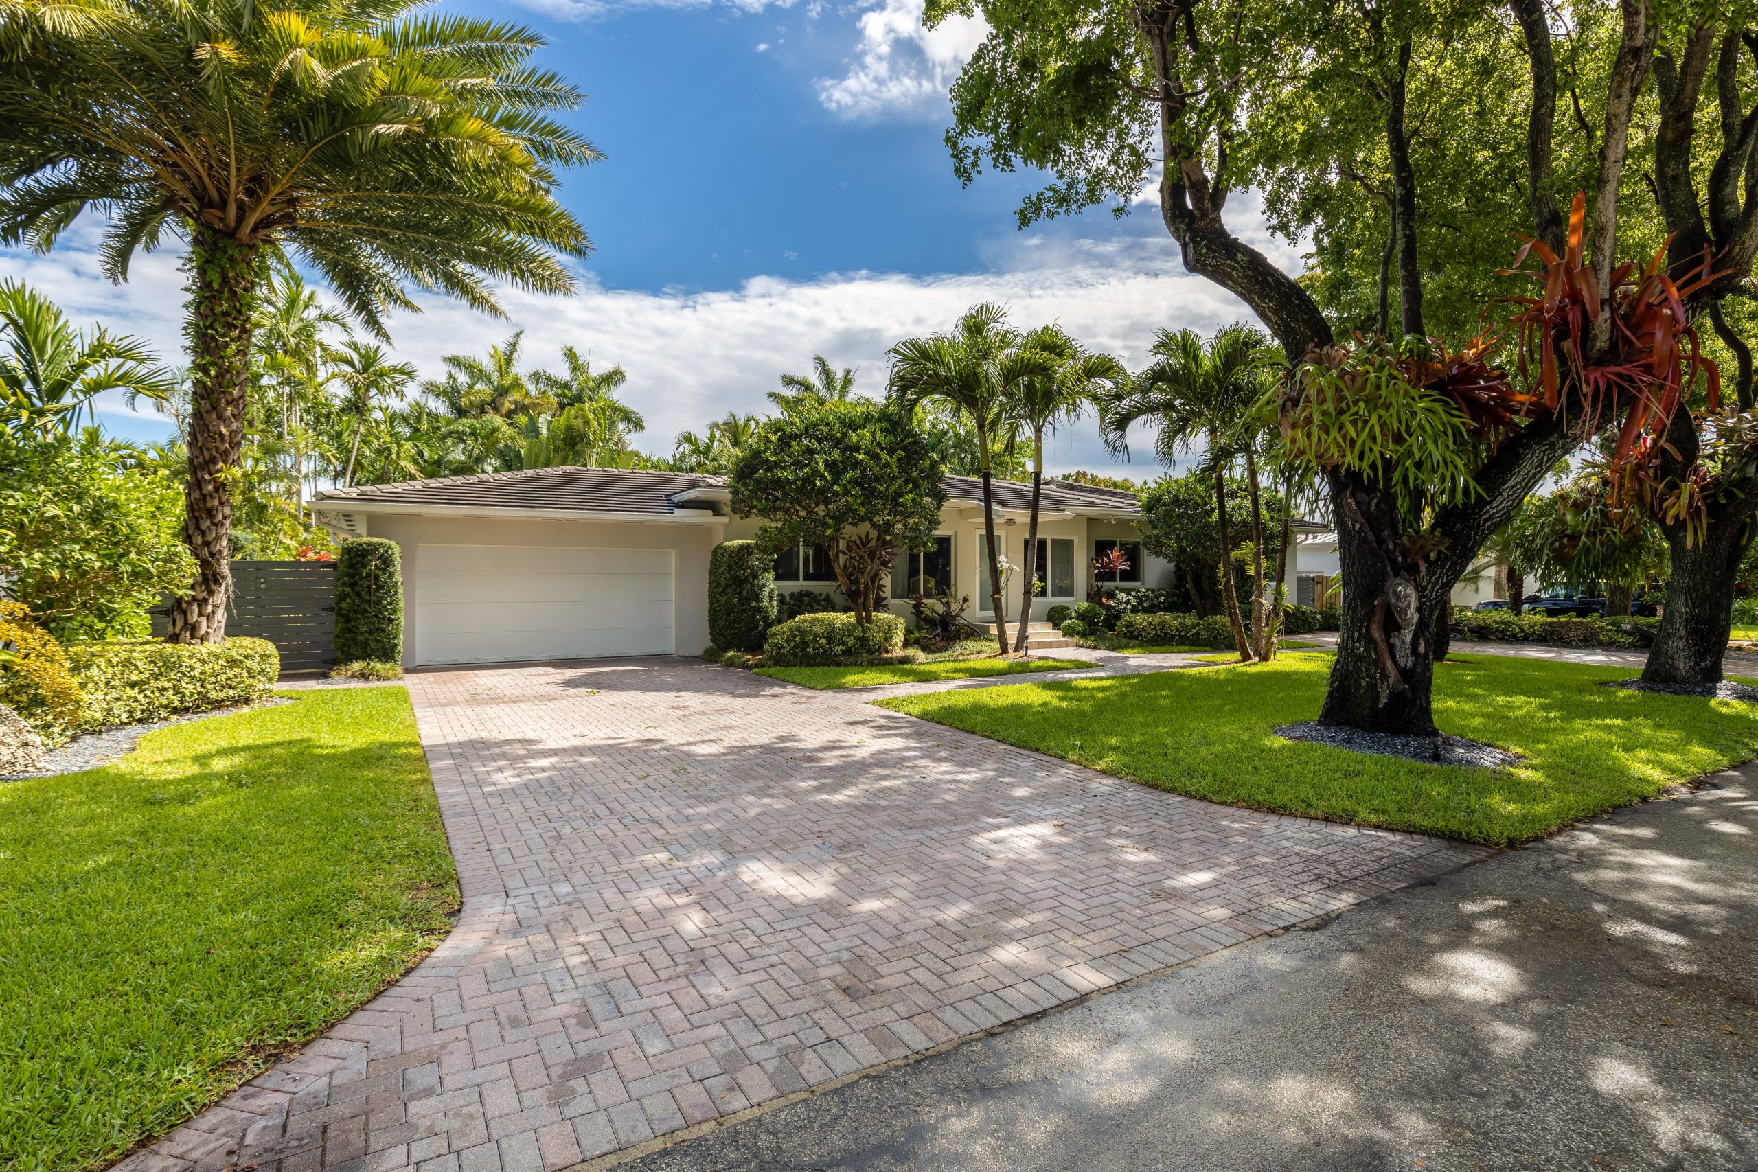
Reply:
<svg viewBox="0 0 1758 1172"><path fill-rule="evenodd" d="M860 367L877 394L884 350L946 329L969 304L1002 300L1018 325L1060 322L1137 364L1157 327L1211 330L1248 316L1183 274L1151 202L1020 232L1030 176L960 188L942 132L946 88L983 28L919 23L919 0L526 0L452 4L524 19L550 44L541 60L589 100L571 121L605 153L568 172L561 197L594 241L575 297L508 292L512 322L424 302L390 325L401 357L436 373L445 353L482 350L526 329L531 362L563 344L622 362L626 397L649 420L638 443L670 450L680 429L726 411L761 411L782 371L814 351ZM1248 214L1236 230L1262 237ZM0 272L98 320L179 350L178 257L137 265L111 286L74 232L51 257L0 251ZM1283 265L1297 253L1271 246ZM167 427L107 404L105 427L158 438ZM1053 445L1060 469L1153 473L1143 436L1122 469L1090 423Z"/></svg>

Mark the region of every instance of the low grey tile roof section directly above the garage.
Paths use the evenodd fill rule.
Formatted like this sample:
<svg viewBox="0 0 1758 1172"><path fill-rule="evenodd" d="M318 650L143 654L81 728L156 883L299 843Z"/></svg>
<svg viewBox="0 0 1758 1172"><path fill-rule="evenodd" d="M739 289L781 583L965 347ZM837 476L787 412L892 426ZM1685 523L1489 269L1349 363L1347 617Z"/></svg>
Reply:
<svg viewBox="0 0 1758 1172"><path fill-rule="evenodd" d="M526 473L483 473L357 485L316 494L315 506L350 501L450 504L496 510L580 510L584 513L654 513L670 517L672 501L689 488L719 488L724 476L649 473L622 467L538 467ZM694 510L689 510L694 511Z"/></svg>

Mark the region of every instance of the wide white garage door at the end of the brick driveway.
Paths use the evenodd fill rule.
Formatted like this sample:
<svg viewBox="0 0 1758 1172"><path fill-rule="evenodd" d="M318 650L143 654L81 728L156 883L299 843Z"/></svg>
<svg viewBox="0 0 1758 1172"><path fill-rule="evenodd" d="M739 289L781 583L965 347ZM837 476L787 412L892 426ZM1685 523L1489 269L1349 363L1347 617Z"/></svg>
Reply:
<svg viewBox="0 0 1758 1172"><path fill-rule="evenodd" d="M670 655L673 550L422 545L415 662Z"/></svg>

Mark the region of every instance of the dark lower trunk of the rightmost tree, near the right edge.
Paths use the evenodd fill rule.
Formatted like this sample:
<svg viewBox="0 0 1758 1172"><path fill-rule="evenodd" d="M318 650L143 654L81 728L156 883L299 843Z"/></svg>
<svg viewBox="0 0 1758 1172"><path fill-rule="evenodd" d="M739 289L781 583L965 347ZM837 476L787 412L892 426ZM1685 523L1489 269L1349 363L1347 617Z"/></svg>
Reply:
<svg viewBox="0 0 1758 1172"><path fill-rule="evenodd" d="M1733 627L1733 589L1749 545L1740 539L1742 529L1742 522L1711 522L1709 532L1688 548L1684 529L1667 527L1672 580L1654 647L1642 668L1644 682L1721 682L1721 657Z"/></svg>

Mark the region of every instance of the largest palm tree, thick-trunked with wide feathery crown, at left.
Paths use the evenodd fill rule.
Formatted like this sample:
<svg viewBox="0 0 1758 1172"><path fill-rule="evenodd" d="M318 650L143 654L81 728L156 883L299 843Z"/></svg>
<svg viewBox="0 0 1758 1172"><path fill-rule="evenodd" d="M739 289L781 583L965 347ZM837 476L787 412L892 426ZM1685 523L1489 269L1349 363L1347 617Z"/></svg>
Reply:
<svg viewBox="0 0 1758 1172"><path fill-rule="evenodd" d="M193 411L172 641L225 638L230 469L264 271L301 255L383 336L408 288L501 313L490 281L570 292L589 242L556 167L596 158L550 118L580 93L517 25L418 0L9 0L0 18L0 242L107 216L104 271L190 246Z"/></svg>

